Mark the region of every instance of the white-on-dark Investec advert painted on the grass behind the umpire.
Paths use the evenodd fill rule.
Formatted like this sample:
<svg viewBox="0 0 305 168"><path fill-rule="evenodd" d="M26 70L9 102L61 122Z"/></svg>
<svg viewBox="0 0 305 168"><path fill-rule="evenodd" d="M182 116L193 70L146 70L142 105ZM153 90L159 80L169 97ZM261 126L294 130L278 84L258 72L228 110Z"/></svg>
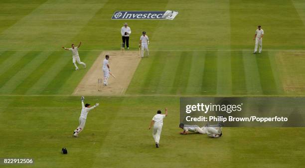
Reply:
<svg viewBox="0 0 305 168"><path fill-rule="evenodd" d="M169 13L169 14L167 14ZM115 11L111 19L173 19L176 11Z"/></svg>

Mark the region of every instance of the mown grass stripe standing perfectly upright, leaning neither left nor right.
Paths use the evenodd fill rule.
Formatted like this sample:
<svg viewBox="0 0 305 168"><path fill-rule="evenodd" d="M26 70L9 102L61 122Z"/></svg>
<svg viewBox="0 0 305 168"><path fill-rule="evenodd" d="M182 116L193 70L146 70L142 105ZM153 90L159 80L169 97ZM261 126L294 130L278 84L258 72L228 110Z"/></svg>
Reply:
<svg viewBox="0 0 305 168"><path fill-rule="evenodd" d="M218 52L217 95L232 95L231 52Z"/></svg>

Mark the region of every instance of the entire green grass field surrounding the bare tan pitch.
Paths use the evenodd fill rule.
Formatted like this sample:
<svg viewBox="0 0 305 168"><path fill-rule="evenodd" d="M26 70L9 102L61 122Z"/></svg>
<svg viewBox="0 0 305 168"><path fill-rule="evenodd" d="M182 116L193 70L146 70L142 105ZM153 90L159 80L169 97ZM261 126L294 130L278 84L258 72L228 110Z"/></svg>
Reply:
<svg viewBox="0 0 305 168"><path fill-rule="evenodd" d="M304 96L303 0L1 0L0 158L34 158L31 168L301 168L304 128L224 128L224 136L180 136L180 96ZM150 37L122 97L86 97L80 138L71 96L103 50L118 50L125 20L116 10L178 10L174 20L127 20L131 50ZM263 52L252 54L257 25ZM74 71L69 47L82 41ZM147 130L168 107L160 145ZM60 155L62 147L67 156ZM4 167L0 165L0 167Z"/></svg>

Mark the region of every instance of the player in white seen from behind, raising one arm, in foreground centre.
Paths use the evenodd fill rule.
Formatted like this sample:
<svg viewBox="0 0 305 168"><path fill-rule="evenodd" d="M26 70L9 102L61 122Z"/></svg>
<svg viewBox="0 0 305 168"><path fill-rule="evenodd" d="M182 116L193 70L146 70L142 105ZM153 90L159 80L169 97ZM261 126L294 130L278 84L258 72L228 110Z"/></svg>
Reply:
<svg viewBox="0 0 305 168"><path fill-rule="evenodd" d="M157 111L157 114L152 117L152 122L149 130L153 126L152 137L155 142L155 148L159 148L159 141L162 132L163 119L167 116L167 109L165 108L165 114L161 114L161 110Z"/></svg>

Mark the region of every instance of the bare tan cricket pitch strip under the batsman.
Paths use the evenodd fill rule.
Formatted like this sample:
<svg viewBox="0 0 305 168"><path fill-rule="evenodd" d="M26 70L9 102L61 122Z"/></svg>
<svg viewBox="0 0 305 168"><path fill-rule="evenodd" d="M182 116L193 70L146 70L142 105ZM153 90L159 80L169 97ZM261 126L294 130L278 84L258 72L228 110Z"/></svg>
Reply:
<svg viewBox="0 0 305 168"><path fill-rule="evenodd" d="M98 78L103 79L102 62L105 55L109 54L111 73L116 78L109 76L108 86L97 90ZM140 63L141 58L137 51L104 51L95 60L90 70L78 84L72 95L75 96L121 96L126 89Z"/></svg>

